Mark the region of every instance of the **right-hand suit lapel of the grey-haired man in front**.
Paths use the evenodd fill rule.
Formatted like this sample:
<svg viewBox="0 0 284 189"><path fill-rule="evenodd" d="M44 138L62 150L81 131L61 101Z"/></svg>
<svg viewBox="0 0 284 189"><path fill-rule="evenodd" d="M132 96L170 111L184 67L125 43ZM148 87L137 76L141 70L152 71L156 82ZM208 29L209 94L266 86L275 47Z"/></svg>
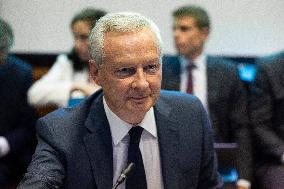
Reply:
<svg viewBox="0 0 284 189"><path fill-rule="evenodd" d="M178 124L170 119L171 108L159 100L154 108L165 189L179 188Z"/></svg>

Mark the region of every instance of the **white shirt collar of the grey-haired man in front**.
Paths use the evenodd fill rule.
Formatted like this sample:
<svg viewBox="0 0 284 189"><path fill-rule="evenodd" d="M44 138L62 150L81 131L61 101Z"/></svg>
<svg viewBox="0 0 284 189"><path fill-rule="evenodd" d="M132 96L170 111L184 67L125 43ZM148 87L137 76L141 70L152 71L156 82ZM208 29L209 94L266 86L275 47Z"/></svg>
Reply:
<svg viewBox="0 0 284 189"><path fill-rule="evenodd" d="M105 98L103 98L103 104L110 125L113 144L117 145L128 134L128 131L133 125L123 121L113 111L111 111L105 101ZM149 132L155 138L157 137L157 127L153 107L151 107L150 110L146 113L139 126L144 128L145 131Z"/></svg>

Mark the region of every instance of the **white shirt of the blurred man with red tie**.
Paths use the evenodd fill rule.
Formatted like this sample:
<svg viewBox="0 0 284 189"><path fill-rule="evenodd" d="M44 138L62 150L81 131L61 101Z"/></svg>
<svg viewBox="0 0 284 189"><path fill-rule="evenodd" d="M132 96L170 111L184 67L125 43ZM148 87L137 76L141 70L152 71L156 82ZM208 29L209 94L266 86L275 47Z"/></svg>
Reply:
<svg viewBox="0 0 284 189"><path fill-rule="evenodd" d="M188 60L184 56L179 57L181 62L181 85L180 91L186 93L188 83ZM194 60L195 68L192 70L193 95L197 96L203 106L208 110L207 104L207 73L206 73L206 56L200 55Z"/></svg>

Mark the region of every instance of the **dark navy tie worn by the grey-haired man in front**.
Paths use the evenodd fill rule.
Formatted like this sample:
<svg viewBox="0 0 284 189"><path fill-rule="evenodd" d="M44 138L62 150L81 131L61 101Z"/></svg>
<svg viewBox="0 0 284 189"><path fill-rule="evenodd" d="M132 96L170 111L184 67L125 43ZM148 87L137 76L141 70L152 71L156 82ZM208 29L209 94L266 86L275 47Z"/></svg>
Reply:
<svg viewBox="0 0 284 189"><path fill-rule="evenodd" d="M139 142L143 128L134 126L128 132L130 136L128 146L128 164L135 163L132 174L126 179L126 189L147 189L147 181Z"/></svg>

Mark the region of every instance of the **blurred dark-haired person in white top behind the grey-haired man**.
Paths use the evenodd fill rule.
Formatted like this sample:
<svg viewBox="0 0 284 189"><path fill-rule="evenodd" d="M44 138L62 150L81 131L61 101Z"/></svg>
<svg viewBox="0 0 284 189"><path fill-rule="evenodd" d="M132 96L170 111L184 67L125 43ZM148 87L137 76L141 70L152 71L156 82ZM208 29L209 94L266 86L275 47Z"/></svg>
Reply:
<svg viewBox="0 0 284 189"><path fill-rule="evenodd" d="M74 48L69 54L59 55L48 73L33 84L28 92L30 104L64 107L70 98L89 96L100 88L89 77L89 35L105 13L86 8L74 16L71 21Z"/></svg>

